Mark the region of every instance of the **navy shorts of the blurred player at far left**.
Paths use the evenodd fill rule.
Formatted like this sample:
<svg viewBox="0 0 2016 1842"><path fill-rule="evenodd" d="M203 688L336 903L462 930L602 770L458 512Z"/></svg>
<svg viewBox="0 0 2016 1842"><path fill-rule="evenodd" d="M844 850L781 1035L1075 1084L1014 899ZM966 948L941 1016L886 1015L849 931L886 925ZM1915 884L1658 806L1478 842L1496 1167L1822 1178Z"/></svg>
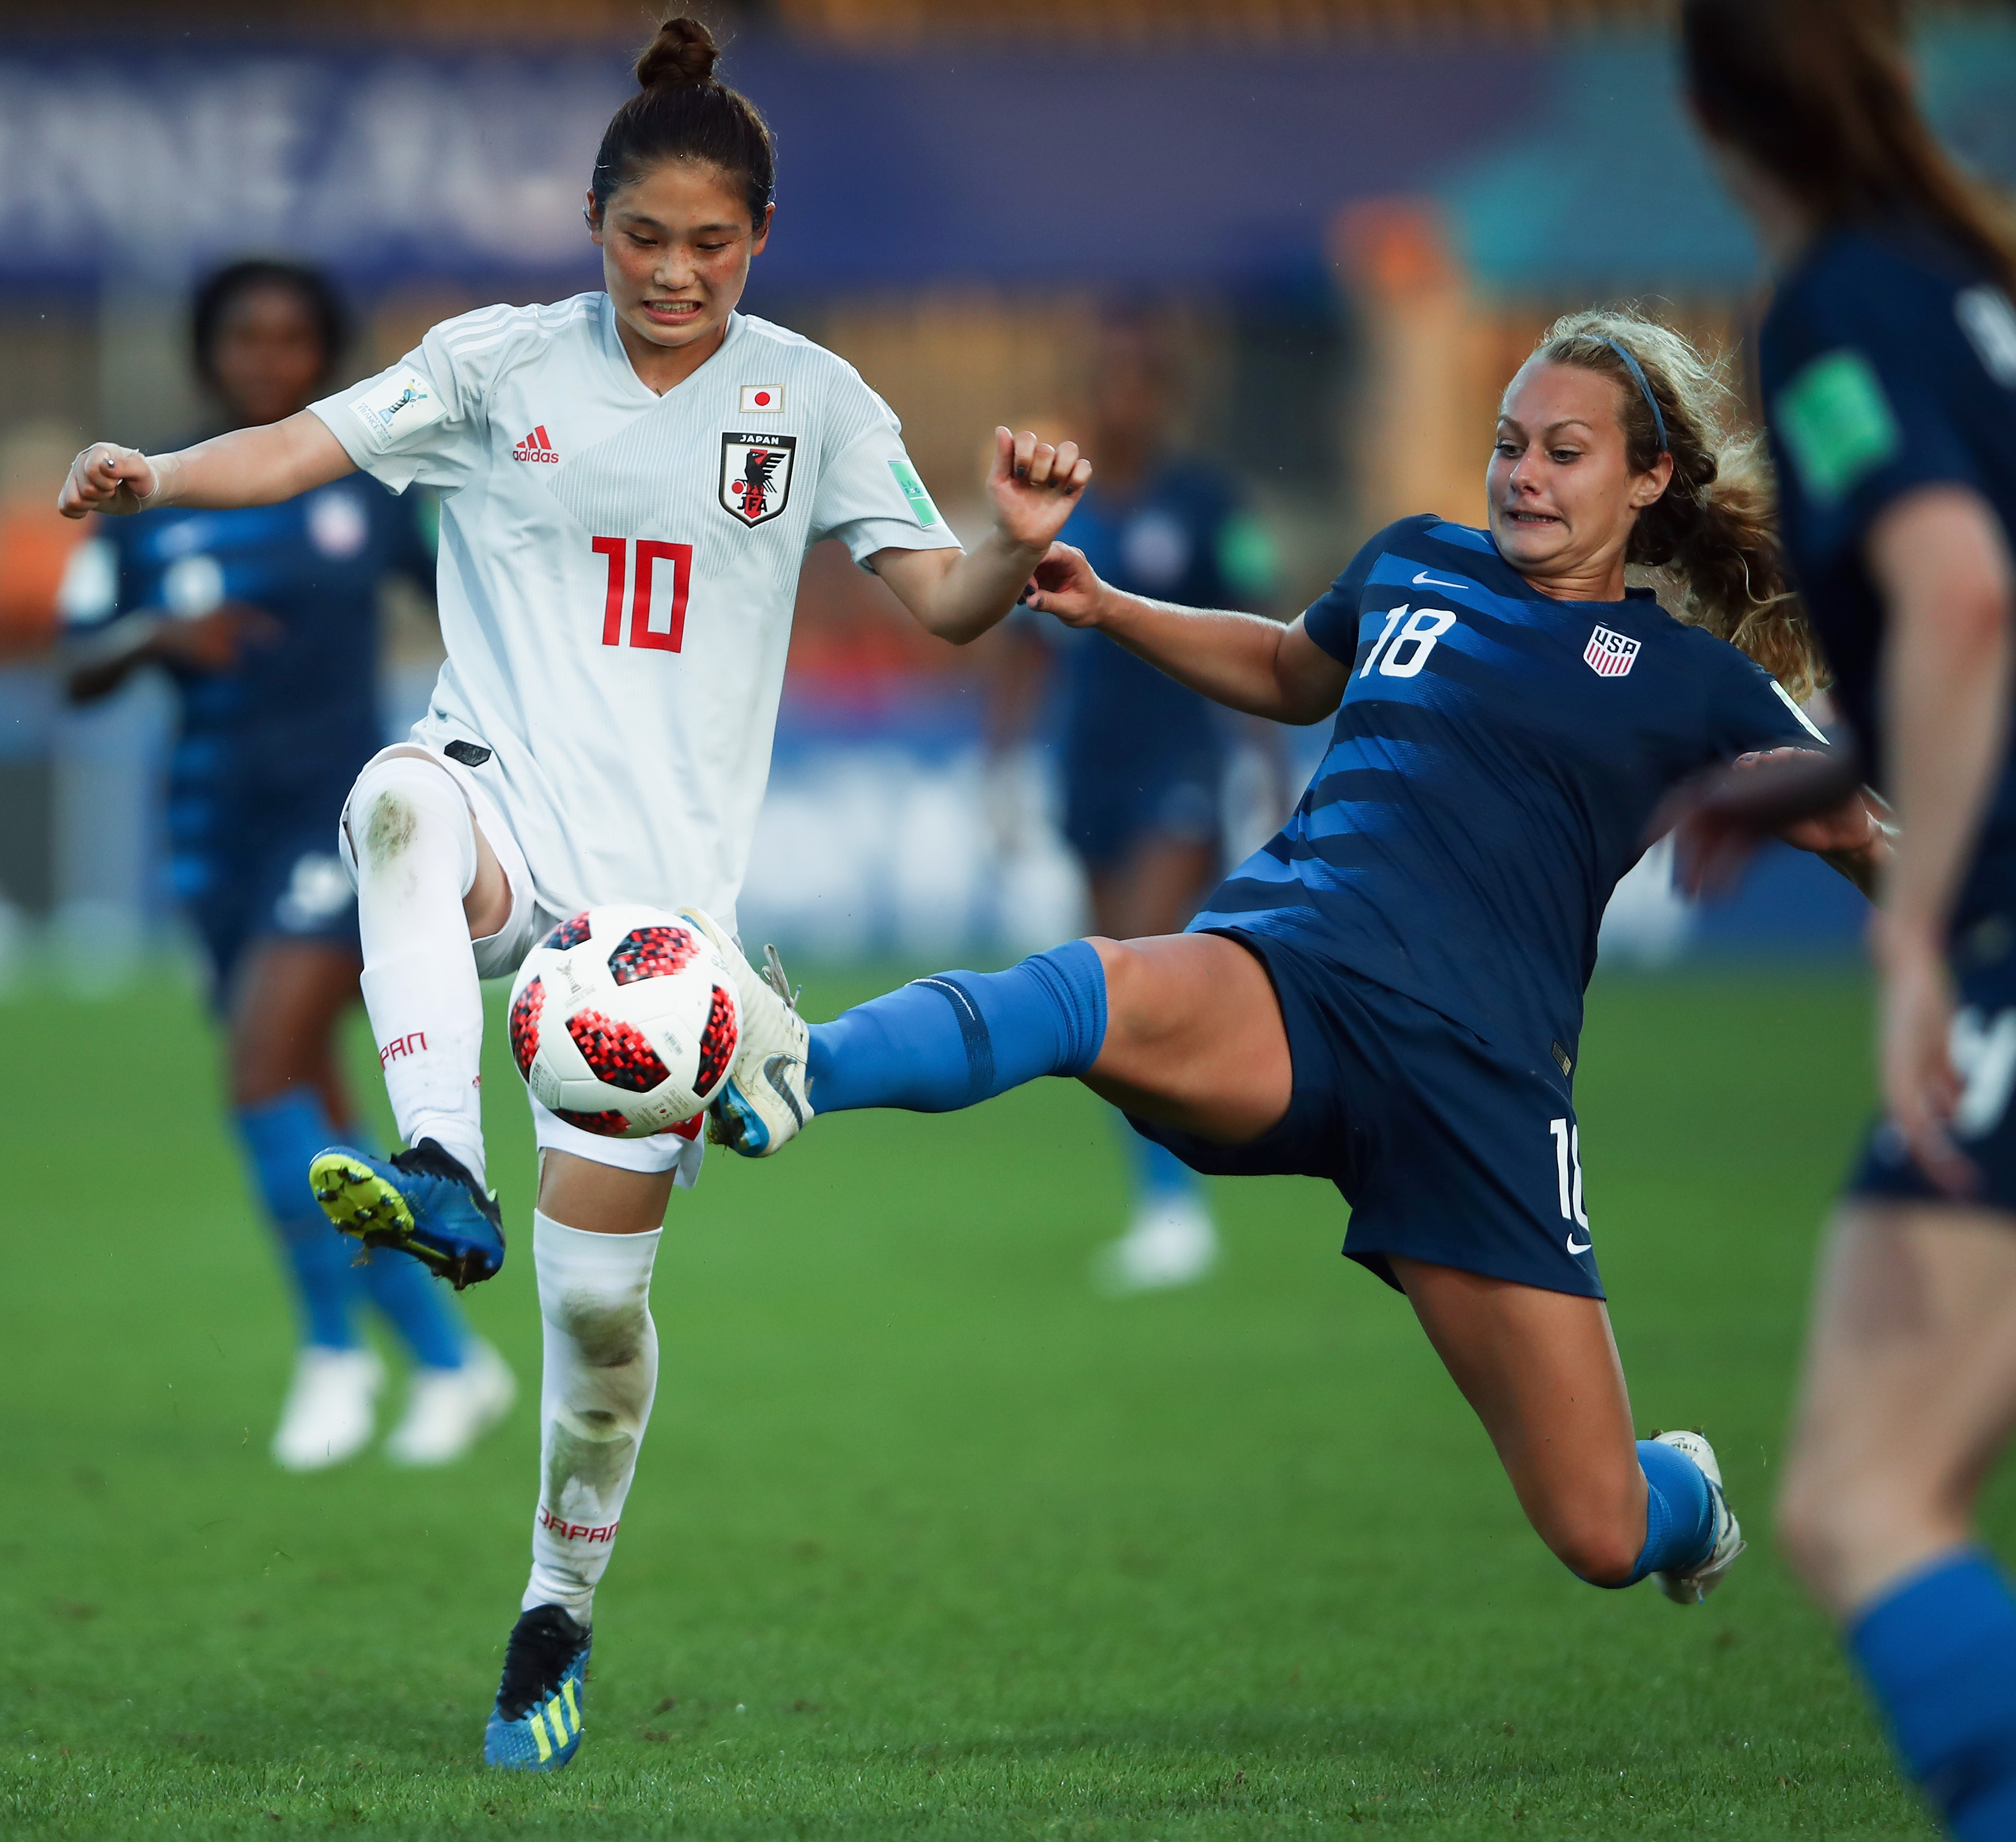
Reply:
<svg viewBox="0 0 2016 1842"><path fill-rule="evenodd" d="M357 891L337 857L337 810L250 836L230 850L177 850L175 893L210 955L212 994L222 1006L244 951L280 937L359 953Z"/></svg>

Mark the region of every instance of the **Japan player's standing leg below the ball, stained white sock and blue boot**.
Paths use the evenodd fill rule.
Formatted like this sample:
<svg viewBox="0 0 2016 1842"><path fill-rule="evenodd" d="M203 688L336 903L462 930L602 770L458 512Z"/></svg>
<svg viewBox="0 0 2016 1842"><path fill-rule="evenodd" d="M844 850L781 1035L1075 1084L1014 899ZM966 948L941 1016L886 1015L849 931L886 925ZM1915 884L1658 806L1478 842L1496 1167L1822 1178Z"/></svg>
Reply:
<svg viewBox="0 0 2016 1842"><path fill-rule="evenodd" d="M542 1153L532 1217L546 1336L540 1489L532 1574L484 1729L490 1765L558 1771L581 1747L595 1586L615 1550L657 1393L651 1266L673 1181L673 1171Z"/></svg>

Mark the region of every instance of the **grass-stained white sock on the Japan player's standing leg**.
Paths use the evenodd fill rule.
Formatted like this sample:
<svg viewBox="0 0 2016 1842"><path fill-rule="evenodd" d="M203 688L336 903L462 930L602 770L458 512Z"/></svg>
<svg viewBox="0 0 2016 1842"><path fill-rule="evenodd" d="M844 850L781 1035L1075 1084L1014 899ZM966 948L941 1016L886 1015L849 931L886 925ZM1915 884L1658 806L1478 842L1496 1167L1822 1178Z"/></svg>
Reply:
<svg viewBox="0 0 2016 1842"><path fill-rule="evenodd" d="M661 1233L583 1233L532 1211L546 1368L532 1578L520 1610L566 1606L587 1624L595 1606L657 1393L649 1296Z"/></svg>

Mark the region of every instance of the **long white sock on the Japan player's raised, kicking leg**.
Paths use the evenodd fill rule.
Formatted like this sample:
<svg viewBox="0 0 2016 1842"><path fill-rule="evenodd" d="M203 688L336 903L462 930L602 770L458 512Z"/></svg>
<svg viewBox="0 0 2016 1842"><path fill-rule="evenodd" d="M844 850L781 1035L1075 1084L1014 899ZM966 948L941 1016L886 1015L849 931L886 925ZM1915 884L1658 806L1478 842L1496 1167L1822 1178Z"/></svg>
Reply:
<svg viewBox="0 0 2016 1842"><path fill-rule="evenodd" d="M484 1181L484 1000L462 897L476 824L433 762L393 756L351 794L365 1010L407 1145L435 1139Z"/></svg>

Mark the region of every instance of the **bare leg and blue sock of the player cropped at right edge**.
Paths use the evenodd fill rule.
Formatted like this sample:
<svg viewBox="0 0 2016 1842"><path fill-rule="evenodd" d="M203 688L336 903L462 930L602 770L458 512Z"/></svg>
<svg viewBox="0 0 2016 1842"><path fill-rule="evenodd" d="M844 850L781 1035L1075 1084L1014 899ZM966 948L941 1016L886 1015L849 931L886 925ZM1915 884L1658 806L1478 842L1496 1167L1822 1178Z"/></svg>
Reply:
<svg viewBox="0 0 2016 1842"><path fill-rule="evenodd" d="M2016 1836L2016 1596L1974 1503L2016 1423L2016 1217L1851 1203L1820 1266L1778 1536L1962 1842Z"/></svg>

